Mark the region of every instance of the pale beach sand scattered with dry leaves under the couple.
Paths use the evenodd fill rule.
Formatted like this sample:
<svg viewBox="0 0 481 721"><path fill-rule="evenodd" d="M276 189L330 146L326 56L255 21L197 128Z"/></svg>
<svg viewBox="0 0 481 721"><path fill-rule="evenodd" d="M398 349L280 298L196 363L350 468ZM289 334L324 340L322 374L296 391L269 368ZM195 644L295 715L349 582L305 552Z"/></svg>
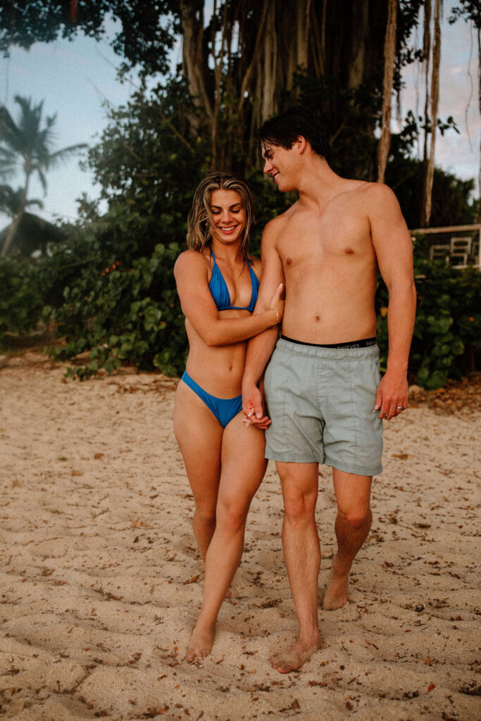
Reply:
<svg viewBox="0 0 481 721"><path fill-rule="evenodd" d="M84 383L43 355L0 370L0 715L22 721L475 720L479 397L386 424L374 524L322 649L281 676L296 615L273 466L252 503L213 653L182 660L200 606L193 498L172 433L177 381ZM471 398L472 401L472 398ZM474 406L477 405L478 410ZM335 548L319 473L319 596Z"/></svg>

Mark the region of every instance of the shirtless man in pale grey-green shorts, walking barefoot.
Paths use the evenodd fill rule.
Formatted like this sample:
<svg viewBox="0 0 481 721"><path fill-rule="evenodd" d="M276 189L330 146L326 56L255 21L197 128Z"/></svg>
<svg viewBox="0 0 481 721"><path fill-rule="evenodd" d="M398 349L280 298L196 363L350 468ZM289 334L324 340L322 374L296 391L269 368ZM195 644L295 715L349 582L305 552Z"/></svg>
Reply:
<svg viewBox="0 0 481 721"><path fill-rule="evenodd" d="M415 318L412 242L389 187L346 180L327 164L317 117L291 108L257 133L264 172L299 200L262 236L255 313L284 283L281 338L252 338L242 384L244 423L265 423L257 383L265 373L272 425L266 458L276 461L284 500L283 552L299 619L294 645L273 655L281 673L301 668L319 648L319 536L314 512L319 463L332 466L337 552L325 610L348 601L348 575L372 515L373 475L382 471L382 421L407 407L407 358ZM375 342L378 272L389 290L389 358L381 380ZM277 343L276 343L277 341Z"/></svg>

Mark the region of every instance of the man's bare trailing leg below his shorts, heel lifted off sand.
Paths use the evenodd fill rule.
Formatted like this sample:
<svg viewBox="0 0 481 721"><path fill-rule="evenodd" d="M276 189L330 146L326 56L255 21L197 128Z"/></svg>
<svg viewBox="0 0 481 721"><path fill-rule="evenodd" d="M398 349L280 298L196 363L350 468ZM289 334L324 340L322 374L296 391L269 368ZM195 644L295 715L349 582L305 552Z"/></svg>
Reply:
<svg viewBox="0 0 481 721"><path fill-rule="evenodd" d="M348 602L350 567L369 534L372 523L371 476L358 476L332 469L337 500L335 534L337 553L332 557L332 575L324 596L325 611L340 609Z"/></svg>

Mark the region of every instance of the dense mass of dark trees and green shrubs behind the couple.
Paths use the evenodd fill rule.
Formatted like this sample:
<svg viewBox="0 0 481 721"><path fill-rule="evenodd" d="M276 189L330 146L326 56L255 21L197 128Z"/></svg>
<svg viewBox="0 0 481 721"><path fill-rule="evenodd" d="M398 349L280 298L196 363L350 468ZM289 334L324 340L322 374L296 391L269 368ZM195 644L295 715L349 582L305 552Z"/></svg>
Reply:
<svg viewBox="0 0 481 721"><path fill-rule="evenodd" d="M252 143L258 123L294 102L320 109L330 128L334 169L376 180L374 131L383 124L386 98L400 89L403 64L433 62L435 24L421 0L398 4L394 73L387 89L387 0L84 0L78 6L48 0L40 15L37 3L25 3L21 22L13 5L0 8L0 48L7 40L28 47L36 38L71 37L78 30L98 37L110 12L122 25L113 42L124 70L140 68L141 87L125 107L109 111L100 142L89 150L87 164L102 187L107 212L100 216L82 200L79 222L64 229L67 239L35 265L25 261L24 270L16 265L14 272L24 278L16 289L0 286L0 309L9 305L7 293L16 293L19 305L25 293L30 326L45 306L43 319L56 324L65 338L52 353L62 360L81 353L82 364L71 371L79 378L100 368L114 371L122 363L182 372L187 340L172 267L185 247L187 211L200 177L212 167L246 175L257 199L254 249L265 223L293 200L262 180ZM76 16L74 6L81 9ZM408 37L418 22L425 27L425 44L416 50ZM168 70L176 33L182 35L182 66L155 84L153 76ZM435 76L431 73L431 79ZM436 103L428 96L423 117L407 115L387 156L386 180L411 227L419 226L425 213L431 159L429 151L423 160L415 159L415 144L428 148L434 128L456 131L453 118L436 117ZM471 191L471 182L433 169L431 224L472 222ZM418 280L411 363L420 384L436 387L448 374L471 370L479 355L480 276L430 264L422 248L422 243L416 247L416 273L424 278ZM0 273L1 264L10 260L0 259ZM30 277L35 282L29 283ZM386 306L387 291L380 282L376 307L384 358ZM2 312L0 332L25 329L26 320Z"/></svg>

